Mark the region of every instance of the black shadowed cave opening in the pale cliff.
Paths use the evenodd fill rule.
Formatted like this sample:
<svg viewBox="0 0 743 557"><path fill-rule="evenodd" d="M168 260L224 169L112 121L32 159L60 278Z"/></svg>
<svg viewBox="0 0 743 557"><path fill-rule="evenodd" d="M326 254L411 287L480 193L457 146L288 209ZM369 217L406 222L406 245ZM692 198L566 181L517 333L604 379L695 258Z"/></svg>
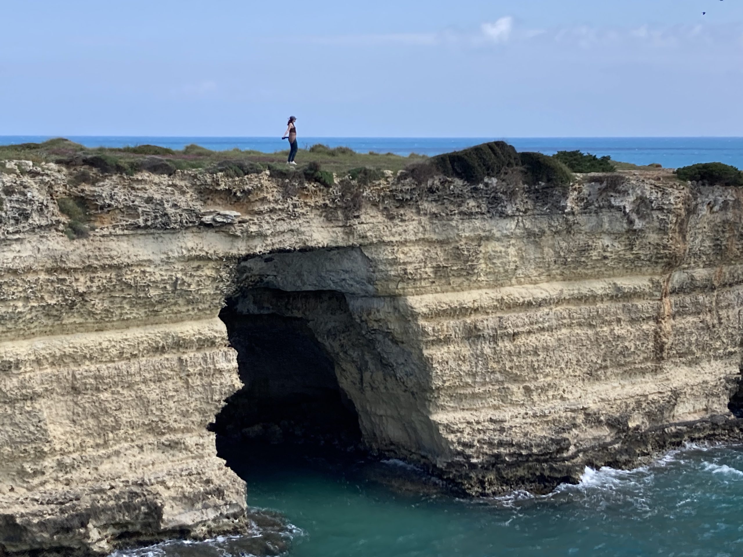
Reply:
<svg viewBox="0 0 743 557"><path fill-rule="evenodd" d="M265 299L271 291L260 292ZM308 296L313 293L276 291L283 305L296 297L302 306ZM273 313L266 307L253 313L250 304L247 309L241 304L243 300L240 296L227 300L220 313L230 345L237 351L244 384L210 426L227 466L235 469L230 460L236 449L241 455L245 449L260 455L287 447L297 455L360 450L357 412L340 388L335 363L308 319Z"/></svg>

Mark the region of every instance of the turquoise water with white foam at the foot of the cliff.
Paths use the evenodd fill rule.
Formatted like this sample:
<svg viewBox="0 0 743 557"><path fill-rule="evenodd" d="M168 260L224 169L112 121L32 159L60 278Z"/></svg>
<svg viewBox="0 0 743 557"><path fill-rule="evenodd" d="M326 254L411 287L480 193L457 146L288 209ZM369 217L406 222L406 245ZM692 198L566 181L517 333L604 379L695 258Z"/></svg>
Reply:
<svg viewBox="0 0 743 557"><path fill-rule="evenodd" d="M632 472L586 469L580 485L538 498L455 498L425 478L406 482L411 472L394 461L269 458L238 468L250 504L299 529L291 557L743 555L740 446L684 449ZM224 540L136 553L239 555Z"/></svg>

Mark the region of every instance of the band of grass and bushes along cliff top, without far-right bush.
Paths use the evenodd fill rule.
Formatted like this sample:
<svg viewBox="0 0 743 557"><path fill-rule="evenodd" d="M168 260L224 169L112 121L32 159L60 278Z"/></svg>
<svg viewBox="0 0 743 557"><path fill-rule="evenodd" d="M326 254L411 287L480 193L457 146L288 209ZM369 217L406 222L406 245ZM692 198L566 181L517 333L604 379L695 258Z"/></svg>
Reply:
<svg viewBox="0 0 743 557"><path fill-rule="evenodd" d="M176 170L204 169L212 173L224 172L232 177L269 169L276 177L290 177L299 172L308 180L331 185L333 173L340 179L344 175L357 175L360 169L377 173L409 169L421 183L435 174L461 177L477 183L486 176L498 176L504 169L521 166L526 171L525 176L533 182L569 183L571 172L657 170L660 167L620 163L609 157L598 158L578 151L561 152L553 157L538 153L516 153L513 146L503 142L483 143L430 158L418 154L402 157L392 153L357 153L348 147L330 148L317 144L299 150L296 156L298 167L287 166L287 156L288 150L274 153L240 149L212 151L193 144L180 150L156 145L91 149L62 137L44 143L0 146L0 160L22 159L77 167L80 169L77 175L88 173L87 179L80 177L78 180L83 182L91 182L92 175L86 169L97 169L100 174L126 175L139 171L171 175Z"/></svg>

